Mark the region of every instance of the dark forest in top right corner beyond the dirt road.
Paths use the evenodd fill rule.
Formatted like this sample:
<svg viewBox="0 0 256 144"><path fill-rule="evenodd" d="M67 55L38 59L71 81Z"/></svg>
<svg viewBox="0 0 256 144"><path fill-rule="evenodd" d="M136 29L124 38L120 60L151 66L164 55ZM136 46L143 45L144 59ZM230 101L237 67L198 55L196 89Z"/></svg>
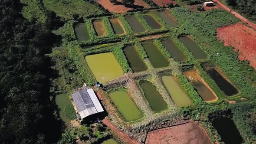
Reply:
<svg viewBox="0 0 256 144"><path fill-rule="evenodd" d="M255 0L225 0L226 4L249 20L256 23Z"/></svg>

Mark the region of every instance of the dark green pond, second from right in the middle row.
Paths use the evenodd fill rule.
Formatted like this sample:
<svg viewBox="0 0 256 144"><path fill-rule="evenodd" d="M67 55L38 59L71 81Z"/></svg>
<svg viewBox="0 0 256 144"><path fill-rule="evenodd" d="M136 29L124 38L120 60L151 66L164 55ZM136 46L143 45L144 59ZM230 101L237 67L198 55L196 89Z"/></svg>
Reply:
<svg viewBox="0 0 256 144"><path fill-rule="evenodd" d="M181 50L174 45L172 40L164 40L162 41L162 44L167 48L175 60L178 62L186 61L186 57L184 56L183 52L181 52Z"/></svg>

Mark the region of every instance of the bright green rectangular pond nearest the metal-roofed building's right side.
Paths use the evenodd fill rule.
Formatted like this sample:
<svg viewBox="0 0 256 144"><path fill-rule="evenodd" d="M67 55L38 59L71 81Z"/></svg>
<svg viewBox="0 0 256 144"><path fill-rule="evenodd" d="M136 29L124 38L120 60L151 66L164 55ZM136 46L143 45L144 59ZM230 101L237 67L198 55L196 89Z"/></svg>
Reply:
<svg viewBox="0 0 256 144"><path fill-rule="evenodd" d="M109 96L125 121L134 121L143 117L141 111L125 90L110 92Z"/></svg>

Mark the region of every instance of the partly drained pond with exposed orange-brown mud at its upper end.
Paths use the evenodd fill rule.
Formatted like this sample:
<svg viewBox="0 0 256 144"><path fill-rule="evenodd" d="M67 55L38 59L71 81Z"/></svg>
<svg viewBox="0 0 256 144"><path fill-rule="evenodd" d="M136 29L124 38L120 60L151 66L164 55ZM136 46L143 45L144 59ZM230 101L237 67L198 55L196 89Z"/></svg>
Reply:
<svg viewBox="0 0 256 144"><path fill-rule="evenodd" d="M218 100L217 95L213 92L209 85L204 82L203 78L200 77L197 71L188 71L184 72L183 74L187 77L204 101L211 102Z"/></svg>

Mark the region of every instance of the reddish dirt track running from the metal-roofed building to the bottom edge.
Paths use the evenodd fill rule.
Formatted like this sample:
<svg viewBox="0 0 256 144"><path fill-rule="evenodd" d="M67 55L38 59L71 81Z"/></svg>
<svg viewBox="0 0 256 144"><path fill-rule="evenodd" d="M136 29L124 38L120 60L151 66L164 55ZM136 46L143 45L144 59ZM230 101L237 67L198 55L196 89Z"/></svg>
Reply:
<svg viewBox="0 0 256 144"><path fill-rule="evenodd" d="M116 134L118 134L120 137L123 138L124 141L128 142L129 144L140 144L138 141L132 139L131 137L129 137L127 134L125 134L124 132L120 131L120 129L116 128L111 121L109 121L108 119L103 119L102 120L103 124L106 124L108 126L108 128L110 128L112 131L115 131Z"/></svg>

